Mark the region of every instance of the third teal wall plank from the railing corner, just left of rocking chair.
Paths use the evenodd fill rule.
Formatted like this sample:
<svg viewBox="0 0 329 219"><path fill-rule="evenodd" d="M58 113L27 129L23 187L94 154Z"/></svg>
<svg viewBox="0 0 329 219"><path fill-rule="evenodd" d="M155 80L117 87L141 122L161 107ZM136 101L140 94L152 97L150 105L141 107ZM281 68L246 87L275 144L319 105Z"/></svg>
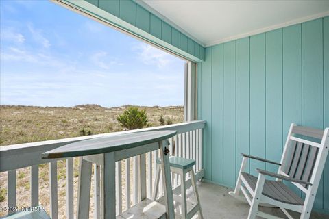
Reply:
<svg viewBox="0 0 329 219"><path fill-rule="evenodd" d="M223 184L235 182L236 42L223 44Z"/></svg>

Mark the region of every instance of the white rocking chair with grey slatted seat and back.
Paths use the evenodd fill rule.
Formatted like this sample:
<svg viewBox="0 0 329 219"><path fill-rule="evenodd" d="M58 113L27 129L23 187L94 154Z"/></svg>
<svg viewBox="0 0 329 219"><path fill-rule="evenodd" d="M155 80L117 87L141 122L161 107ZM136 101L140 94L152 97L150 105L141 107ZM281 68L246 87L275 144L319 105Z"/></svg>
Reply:
<svg viewBox="0 0 329 219"><path fill-rule="evenodd" d="M321 143L297 138L296 135L317 138ZM310 217L317 188L321 179L324 164L329 151L329 128L324 131L301 127L291 124L286 144L284 146L281 162L271 162L267 159L243 154L243 160L239 177L234 192L230 192L235 198L243 192L245 199L250 205L248 219L260 216L262 218L279 218L263 211L258 211L258 206L276 206L293 219L287 209L300 212L300 218ZM262 162L278 165L278 173L256 169L258 177L244 172L247 160L257 159ZM275 177L276 180L267 180L266 176ZM305 194L303 200L287 187L282 180L290 181Z"/></svg>

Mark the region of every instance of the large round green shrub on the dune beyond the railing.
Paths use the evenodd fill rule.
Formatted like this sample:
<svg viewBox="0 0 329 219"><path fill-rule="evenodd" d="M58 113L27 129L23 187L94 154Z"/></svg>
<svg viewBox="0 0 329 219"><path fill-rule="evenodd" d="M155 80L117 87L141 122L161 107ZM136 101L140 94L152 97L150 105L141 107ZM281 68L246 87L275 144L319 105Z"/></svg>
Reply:
<svg viewBox="0 0 329 219"><path fill-rule="evenodd" d="M129 130L141 129L148 124L146 111L139 110L138 107L128 107L117 120L121 127Z"/></svg>

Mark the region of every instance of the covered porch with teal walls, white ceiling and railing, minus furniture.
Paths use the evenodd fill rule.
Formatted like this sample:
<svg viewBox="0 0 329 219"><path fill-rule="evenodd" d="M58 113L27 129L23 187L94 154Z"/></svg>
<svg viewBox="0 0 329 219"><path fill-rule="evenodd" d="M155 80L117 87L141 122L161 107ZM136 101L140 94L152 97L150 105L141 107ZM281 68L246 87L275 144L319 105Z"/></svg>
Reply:
<svg viewBox="0 0 329 219"><path fill-rule="evenodd" d="M228 194L239 175L241 153L280 162L291 123L322 130L329 127L328 1L289 1L286 5L288 9L281 14L282 19L274 19L280 16L280 9L285 6L282 2L276 4L271 1L270 5L266 5L255 1L226 1L222 5L223 10L230 9L232 14L235 13L232 20L239 18L239 13L245 15L232 25L243 23L248 13L256 13L257 10L251 9L253 7L260 7L264 13L276 12L269 14L271 21L256 25L256 21L260 21L258 18L263 16L263 20L266 20L266 14L259 13L254 17L255 25L250 25L251 21L248 20L245 23L247 28L240 25L236 27L240 31L234 32L236 29L233 29L227 35L219 34L221 28L215 26L214 21L205 25L208 29L195 31L196 26L202 26L201 21L210 20L207 14L215 16L217 12L214 7L216 9L221 5L216 1L190 1L186 5L182 1L53 1L184 58L185 122L134 131L2 146L0 172L8 172L5 179L8 185L8 213L14 212L16 206L21 206L16 198L19 191L16 187L19 180L17 170L29 168L30 205L49 205L48 213L52 219L75 218L75 158L47 161L41 159L45 151L97 137L174 130L177 135L169 139L170 155L196 161L193 168L204 218L247 218L250 206ZM239 3L245 6L249 3L249 6L245 10L234 11ZM184 19L180 17L183 6L193 12L188 15L187 10L184 10ZM297 9L293 10L294 7ZM202 9L201 15L197 15L197 8ZM301 11L300 14L297 11ZM292 16L289 16L290 12ZM200 22L196 21L197 16L200 16ZM191 18L191 22L188 22L188 18ZM206 30L209 29L219 31L208 33ZM158 151L151 151L115 164L117 193L112 198L116 201L117 215L140 202L141 191L145 191L147 198L151 198L158 157ZM65 166L65 172L61 174L65 175L66 183L62 188L57 181L59 162ZM48 188L40 188L39 168L45 164L49 165L49 184ZM254 161L248 164L246 171L257 175L256 168L277 171L271 164ZM145 176L145 179L138 178L140 175ZM187 181L191 185L191 177ZM171 183L174 192L180 189L178 175L171 175ZM310 218L328 218L328 183L327 159ZM100 186L100 167L94 164L89 218L103 217ZM41 189L49 192L49 203L40 202ZM64 200L58 199L59 191L65 194ZM162 192L160 185L160 194ZM302 192L296 192L304 198ZM280 218L285 217L278 208L261 209ZM291 214L295 218L300 217L298 213Z"/></svg>

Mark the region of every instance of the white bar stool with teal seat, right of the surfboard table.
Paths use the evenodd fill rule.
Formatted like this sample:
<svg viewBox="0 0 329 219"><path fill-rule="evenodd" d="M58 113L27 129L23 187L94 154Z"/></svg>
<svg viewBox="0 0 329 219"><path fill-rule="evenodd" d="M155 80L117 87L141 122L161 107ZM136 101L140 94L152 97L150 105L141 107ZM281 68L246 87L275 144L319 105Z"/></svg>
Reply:
<svg viewBox="0 0 329 219"><path fill-rule="evenodd" d="M160 164L161 160L156 159L157 168L156 168L156 179L154 182L154 192L153 192L153 200L156 201L156 197L158 196L158 188L159 188L159 181L160 181ZM174 201L177 201L181 204L182 207L182 214L177 214L176 218L184 218L190 219L197 211L199 211L199 218L203 219L202 216L202 209L200 206L199 194L197 192L197 185L195 181L195 175L193 166L195 165L194 159L186 159L182 157L169 157L169 164L170 170L173 173L180 175L180 189L181 189L181 196L173 195ZM191 185L193 187L193 193L197 203L194 203L186 198L186 175L188 172L191 172Z"/></svg>

